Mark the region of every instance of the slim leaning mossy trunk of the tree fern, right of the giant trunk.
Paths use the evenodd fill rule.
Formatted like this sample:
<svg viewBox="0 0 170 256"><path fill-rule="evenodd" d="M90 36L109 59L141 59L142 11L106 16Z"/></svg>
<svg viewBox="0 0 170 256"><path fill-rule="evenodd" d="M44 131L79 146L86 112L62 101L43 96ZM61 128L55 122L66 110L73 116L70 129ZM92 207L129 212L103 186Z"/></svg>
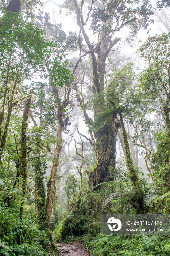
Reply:
<svg viewBox="0 0 170 256"><path fill-rule="evenodd" d="M132 185L134 187L138 188L136 195L135 195L135 201L136 201L137 205L134 204L133 206L135 206L135 208L137 208L137 213L145 214L146 212L145 212L145 208L144 208L144 200L143 200L143 196L142 196L142 193L141 193L140 187L139 187L138 173L136 172L136 168L134 166L134 162L131 157L130 146L128 143L128 136L127 136L127 132L125 130L122 114L119 113L119 116L120 116L120 121L121 121L121 128L123 131L125 156L126 156L126 163L127 163L127 169L129 172L129 177L132 182Z"/></svg>

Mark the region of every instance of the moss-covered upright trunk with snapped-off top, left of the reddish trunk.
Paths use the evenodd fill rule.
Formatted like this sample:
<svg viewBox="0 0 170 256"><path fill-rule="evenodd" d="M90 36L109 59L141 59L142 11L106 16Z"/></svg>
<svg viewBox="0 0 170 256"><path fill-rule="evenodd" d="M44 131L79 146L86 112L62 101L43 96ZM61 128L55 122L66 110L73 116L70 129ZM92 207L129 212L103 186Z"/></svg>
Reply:
<svg viewBox="0 0 170 256"><path fill-rule="evenodd" d="M31 97L27 99L24 112L23 112L23 120L21 126L21 152L19 158L19 176L22 178L22 204L20 207L19 217L21 219L23 214L23 207L24 207L24 198L26 195L26 180L27 180L27 163L26 163L26 156L27 156L27 141L26 141L26 133L27 133L27 126L28 126L28 116L29 116L29 109L31 104Z"/></svg>

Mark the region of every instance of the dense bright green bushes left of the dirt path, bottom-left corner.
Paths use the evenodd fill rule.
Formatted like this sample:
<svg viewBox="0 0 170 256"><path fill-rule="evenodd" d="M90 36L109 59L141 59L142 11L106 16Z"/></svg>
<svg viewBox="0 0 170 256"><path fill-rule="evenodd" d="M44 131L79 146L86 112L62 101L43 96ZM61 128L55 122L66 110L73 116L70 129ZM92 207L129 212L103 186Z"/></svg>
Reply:
<svg viewBox="0 0 170 256"><path fill-rule="evenodd" d="M1 255L49 255L44 248L47 245L51 246L50 238L45 231L39 230L36 224L35 206L29 204L29 200L22 219L19 218L22 197L16 192L21 191L18 187L13 188L11 173L7 172L5 167L1 168L0 189L3 192L0 196L0 242L9 247L9 250L5 247L0 248ZM9 207L8 202L4 203L4 199L7 196L11 197L13 193L15 200L12 200Z"/></svg>

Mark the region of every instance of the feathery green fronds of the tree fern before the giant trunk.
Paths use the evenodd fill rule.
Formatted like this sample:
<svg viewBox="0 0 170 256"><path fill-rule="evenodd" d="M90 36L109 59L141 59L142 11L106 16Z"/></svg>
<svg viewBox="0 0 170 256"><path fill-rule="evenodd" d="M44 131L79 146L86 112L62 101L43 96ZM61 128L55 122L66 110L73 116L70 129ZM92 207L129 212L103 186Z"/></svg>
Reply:
<svg viewBox="0 0 170 256"><path fill-rule="evenodd" d="M110 118L116 116L116 113L122 113L124 118L130 114L133 118L141 115L140 109L147 102L143 101L142 95L139 96L132 86L135 78L132 66L132 63L127 63L123 68L113 72L105 91L94 94L94 99L85 104L87 109L93 106L95 110L100 110L92 123L94 131L102 128Z"/></svg>

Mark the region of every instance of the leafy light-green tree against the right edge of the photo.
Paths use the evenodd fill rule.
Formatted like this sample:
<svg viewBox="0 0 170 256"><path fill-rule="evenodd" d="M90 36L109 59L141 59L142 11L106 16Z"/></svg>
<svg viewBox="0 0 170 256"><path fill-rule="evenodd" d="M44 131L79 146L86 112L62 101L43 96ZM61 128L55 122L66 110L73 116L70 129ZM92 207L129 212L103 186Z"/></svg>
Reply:
<svg viewBox="0 0 170 256"><path fill-rule="evenodd" d="M170 34L149 37L138 50L148 66L140 75L140 87L147 99L159 100L170 137Z"/></svg>

